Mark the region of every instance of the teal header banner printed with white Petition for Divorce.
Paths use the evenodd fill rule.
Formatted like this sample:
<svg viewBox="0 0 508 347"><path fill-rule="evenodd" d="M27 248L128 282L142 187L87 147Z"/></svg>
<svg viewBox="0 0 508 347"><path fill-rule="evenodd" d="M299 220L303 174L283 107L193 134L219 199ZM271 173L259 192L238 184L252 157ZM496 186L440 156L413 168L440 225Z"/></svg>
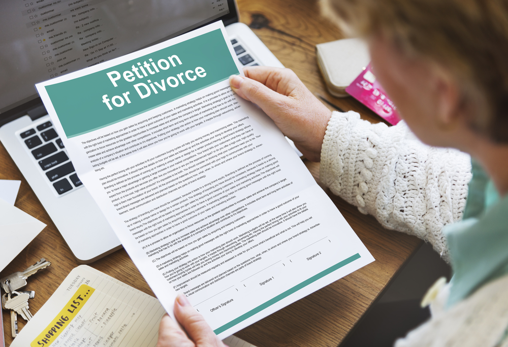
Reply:
<svg viewBox="0 0 508 347"><path fill-rule="evenodd" d="M107 127L239 74L220 29L47 85L68 138Z"/></svg>

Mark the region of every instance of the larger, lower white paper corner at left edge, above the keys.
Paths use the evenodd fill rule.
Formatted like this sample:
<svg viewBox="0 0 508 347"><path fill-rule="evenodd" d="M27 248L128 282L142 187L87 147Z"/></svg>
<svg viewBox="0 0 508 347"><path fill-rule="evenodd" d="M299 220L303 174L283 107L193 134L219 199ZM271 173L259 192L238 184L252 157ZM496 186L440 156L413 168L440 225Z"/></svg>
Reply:
<svg viewBox="0 0 508 347"><path fill-rule="evenodd" d="M0 199L0 271L45 227L40 220Z"/></svg>

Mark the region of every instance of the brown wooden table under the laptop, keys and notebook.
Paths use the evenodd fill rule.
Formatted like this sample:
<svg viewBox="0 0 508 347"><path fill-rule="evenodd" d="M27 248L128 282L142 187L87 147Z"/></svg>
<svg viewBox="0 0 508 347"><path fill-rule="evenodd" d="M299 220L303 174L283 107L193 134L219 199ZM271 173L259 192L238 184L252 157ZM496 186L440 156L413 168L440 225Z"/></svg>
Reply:
<svg viewBox="0 0 508 347"><path fill-rule="evenodd" d="M238 6L241 21L249 25L314 94L320 94L344 110L358 111L362 118L371 122L381 121L352 98L335 99L326 91L316 65L315 45L342 36L332 23L321 17L316 0L238 0ZM306 165L314 177L319 176L319 164L306 162ZM4 277L25 269L39 258L52 262L48 269L30 277L25 287L36 291L36 297L30 300L30 310L35 313L67 274L80 264L1 144L0 179L21 180L15 205L48 225L0 272L0 277ZM237 333L240 338L259 347L338 345L421 244L415 237L383 229L373 217L361 214L356 207L329 191L328 194L376 261L243 329ZM153 295L123 249L90 266ZM4 310L3 318L8 346L12 342L9 312ZM20 319L20 329L23 322Z"/></svg>

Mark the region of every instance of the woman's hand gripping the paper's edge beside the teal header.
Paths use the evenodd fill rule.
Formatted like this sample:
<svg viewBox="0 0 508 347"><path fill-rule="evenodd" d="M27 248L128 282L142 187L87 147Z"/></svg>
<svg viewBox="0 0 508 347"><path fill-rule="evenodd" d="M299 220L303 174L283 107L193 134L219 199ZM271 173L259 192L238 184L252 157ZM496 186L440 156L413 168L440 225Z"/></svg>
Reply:
<svg viewBox="0 0 508 347"><path fill-rule="evenodd" d="M230 77L233 91L261 107L308 160L319 162L332 111L289 69L248 67L243 72L245 78Z"/></svg>

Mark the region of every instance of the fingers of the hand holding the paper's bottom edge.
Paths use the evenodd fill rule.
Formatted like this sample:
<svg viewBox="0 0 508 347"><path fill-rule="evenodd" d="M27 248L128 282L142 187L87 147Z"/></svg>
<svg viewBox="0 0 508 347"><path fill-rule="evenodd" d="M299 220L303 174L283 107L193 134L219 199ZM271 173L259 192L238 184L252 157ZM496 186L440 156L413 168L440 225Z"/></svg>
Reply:
<svg viewBox="0 0 508 347"><path fill-rule="evenodd" d="M184 330L165 314L159 327L157 347L227 347L185 295L176 297L174 312Z"/></svg>

